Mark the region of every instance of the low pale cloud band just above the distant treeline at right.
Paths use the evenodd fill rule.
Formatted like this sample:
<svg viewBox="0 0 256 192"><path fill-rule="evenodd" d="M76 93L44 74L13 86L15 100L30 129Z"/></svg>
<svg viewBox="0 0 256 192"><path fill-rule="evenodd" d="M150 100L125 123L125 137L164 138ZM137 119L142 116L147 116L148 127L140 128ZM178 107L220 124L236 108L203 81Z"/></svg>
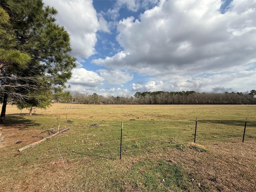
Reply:
<svg viewBox="0 0 256 192"><path fill-rule="evenodd" d="M161 80L162 78L158 77L152 79ZM239 72L238 69L238 71L233 72L200 74L199 76L176 75L165 78L165 81L162 83L160 83L160 81L158 81L158 83L152 82L154 81L151 80L147 82L144 86L140 87L136 85L136 91L140 90L144 92L162 90L170 92L193 90L196 92L219 92L220 89L218 89L217 91L216 88L221 87L223 88L222 90L225 91L232 90L234 92L246 92L249 89L251 90L253 87L255 87L256 71L248 70Z"/></svg>

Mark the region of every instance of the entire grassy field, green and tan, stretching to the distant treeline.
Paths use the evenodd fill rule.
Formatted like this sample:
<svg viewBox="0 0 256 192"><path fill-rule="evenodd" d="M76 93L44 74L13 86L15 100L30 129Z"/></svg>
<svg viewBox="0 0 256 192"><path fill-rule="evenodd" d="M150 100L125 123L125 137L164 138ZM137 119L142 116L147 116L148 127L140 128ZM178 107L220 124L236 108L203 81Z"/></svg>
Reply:
<svg viewBox="0 0 256 192"><path fill-rule="evenodd" d="M7 106L0 191L256 190L254 105L52 104L28 112ZM18 152L58 127L69 130Z"/></svg>

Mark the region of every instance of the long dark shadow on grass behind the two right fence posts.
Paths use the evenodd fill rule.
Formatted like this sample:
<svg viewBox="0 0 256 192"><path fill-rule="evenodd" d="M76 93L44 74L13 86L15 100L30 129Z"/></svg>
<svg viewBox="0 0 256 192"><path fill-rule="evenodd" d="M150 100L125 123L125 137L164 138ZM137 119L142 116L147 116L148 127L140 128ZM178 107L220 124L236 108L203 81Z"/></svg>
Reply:
<svg viewBox="0 0 256 192"><path fill-rule="evenodd" d="M245 120L209 120L209 119L200 119L198 120L200 123L212 123L212 124L219 124L219 125L228 125L228 126L242 126L245 125ZM246 127L256 127L255 121L246 122Z"/></svg>

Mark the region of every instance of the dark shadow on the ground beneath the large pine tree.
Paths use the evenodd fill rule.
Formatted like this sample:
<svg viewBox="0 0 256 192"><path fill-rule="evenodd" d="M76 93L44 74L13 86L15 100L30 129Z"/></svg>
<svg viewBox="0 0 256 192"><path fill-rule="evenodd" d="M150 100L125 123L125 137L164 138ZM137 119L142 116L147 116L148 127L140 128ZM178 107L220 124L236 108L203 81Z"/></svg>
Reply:
<svg viewBox="0 0 256 192"><path fill-rule="evenodd" d="M38 126L40 124L36 123L34 120L29 120L20 116L20 114L8 114L5 117L4 128L18 128L23 129L30 126Z"/></svg>

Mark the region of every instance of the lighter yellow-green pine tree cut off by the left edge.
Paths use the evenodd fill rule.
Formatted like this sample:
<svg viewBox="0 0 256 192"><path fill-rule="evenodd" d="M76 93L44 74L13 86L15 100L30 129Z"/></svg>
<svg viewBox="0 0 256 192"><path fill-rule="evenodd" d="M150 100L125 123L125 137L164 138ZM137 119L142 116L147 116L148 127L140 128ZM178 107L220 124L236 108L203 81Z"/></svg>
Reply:
<svg viewBox="0 0 256 192"><path fill-rule="evenodd" d="M25 52L16 49L18 41L10 24L9 15L2 7L0 7L0 24L0 88L4 98L0 120L4 123L8 92L12 92L15 88L16 77L13 72L17 68L26 68L31 58ZM18 86L20 85L16 84L16 87Z"/></svg>

